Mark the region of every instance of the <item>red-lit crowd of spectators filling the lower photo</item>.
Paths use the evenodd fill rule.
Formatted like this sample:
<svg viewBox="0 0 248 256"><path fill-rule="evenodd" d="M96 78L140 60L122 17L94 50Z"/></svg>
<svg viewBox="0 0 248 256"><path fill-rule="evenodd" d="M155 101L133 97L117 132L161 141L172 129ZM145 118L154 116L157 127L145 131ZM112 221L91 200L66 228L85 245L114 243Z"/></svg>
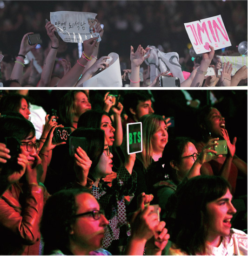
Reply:
<svg viewBox="0 0 248 256"><path fill-rule="evenodd" d="M247 255L244 106L246 90L2 90L0 254Z"/></svg>

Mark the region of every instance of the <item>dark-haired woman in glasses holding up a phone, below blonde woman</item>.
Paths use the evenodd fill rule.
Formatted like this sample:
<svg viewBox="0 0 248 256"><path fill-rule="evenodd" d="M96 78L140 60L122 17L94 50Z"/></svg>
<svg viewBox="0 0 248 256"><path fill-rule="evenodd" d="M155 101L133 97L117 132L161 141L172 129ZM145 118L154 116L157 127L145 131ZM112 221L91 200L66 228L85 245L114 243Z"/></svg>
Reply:
<svg viewBox="0 0 248 256"><path fill-rule="evenodd" d="M161 159L148 167L150 193L154 201L161 207L161 217L165 218L166 204L171 194L183 181L200 175L200 168L204 162L213 158L216 151L210 149L218 138L208 141L204 150L198 154L194 141L186 137L170 139L166 145Z"/></svg>

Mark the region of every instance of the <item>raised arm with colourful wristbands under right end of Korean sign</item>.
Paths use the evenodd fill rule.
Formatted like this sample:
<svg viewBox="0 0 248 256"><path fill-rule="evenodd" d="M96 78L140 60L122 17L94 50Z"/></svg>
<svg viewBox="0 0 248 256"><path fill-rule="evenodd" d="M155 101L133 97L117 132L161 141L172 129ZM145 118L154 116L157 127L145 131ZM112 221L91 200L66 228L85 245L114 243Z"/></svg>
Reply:
<svg viewBox="0 0 248 256"><path fill-rule="evenodd" d="M74 87L78 82L80 75L85 69L87 62L91 61L94 47L97 43L98 37L90 38L83 42L84 54L77 60L77 63L72 67L72 69L67 72L65 76L62 77L57 87Z"/></svg>

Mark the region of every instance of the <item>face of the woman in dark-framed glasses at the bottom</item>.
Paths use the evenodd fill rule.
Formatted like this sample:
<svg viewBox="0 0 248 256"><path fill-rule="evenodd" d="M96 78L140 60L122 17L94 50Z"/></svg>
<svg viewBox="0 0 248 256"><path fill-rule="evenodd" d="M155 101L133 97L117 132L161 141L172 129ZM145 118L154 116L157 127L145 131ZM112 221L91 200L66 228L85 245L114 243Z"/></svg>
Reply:
<svg viewBox="0 0 248 256"><path fill-rule="evenodd" d="M108 221L103 214L98 220L94 219L92 211L100 210L99 203L93 195L82 193L75 196L78 206L76 214L85 214L78 216L72 226L70 244L78 250L87 250L87 252L101 248L104 238L104 228L108 225Z"/></svg>

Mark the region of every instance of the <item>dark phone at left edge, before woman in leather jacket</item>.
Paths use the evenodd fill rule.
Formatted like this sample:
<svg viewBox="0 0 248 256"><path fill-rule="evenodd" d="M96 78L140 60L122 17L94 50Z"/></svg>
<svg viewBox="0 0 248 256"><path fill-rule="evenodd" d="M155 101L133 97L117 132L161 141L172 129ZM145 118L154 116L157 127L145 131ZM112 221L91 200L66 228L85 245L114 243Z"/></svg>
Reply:
<svg viewBox="0 0 248 256"><path fill-rule="evenodd" d="M6 137L5 145L9 149L10 159L7 159L7 163L4 166L12 168L13 171L21 170L22 166L17 163L17 158L20 154L20 141L15 137Z"/></svg>

